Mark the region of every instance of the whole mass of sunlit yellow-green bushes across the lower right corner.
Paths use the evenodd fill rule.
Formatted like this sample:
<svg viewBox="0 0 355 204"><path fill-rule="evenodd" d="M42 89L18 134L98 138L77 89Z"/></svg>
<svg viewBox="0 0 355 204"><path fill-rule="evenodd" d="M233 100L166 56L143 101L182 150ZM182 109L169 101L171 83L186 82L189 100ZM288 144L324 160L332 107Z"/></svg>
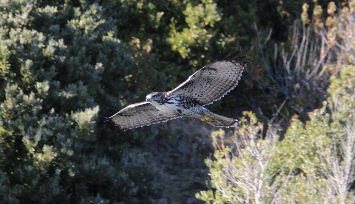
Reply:
<svg viewBox="0 0 355 204"><path fill-rule="evenodd" d="M214 132L214 160L206 164L215 189L196 197L206 203L353 203L354 69L343 66L331 77L323 107L309 113L306 124L294 118L282 141L272 130L261 140L263 126L251 113L231 138L236 149L224 145L223 131Z"/></svg>

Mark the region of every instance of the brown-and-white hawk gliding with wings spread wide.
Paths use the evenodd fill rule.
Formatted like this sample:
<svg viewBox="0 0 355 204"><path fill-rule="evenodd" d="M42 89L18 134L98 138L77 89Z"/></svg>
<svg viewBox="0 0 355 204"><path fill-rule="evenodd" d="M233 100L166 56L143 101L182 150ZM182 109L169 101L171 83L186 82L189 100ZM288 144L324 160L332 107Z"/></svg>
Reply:
<svg viewBox="0 0 355 204"><path fill-rule="evenodd" d="M212 113L204 106L219 100L238 84L246 63L245 56L237 57L240 50L213 58L206 66L193 73L175 89L148 94L146 101L127 106L106 118L120 130L165 122L180 117L200 118L217 127L234 127L236 119Z"/></svg>

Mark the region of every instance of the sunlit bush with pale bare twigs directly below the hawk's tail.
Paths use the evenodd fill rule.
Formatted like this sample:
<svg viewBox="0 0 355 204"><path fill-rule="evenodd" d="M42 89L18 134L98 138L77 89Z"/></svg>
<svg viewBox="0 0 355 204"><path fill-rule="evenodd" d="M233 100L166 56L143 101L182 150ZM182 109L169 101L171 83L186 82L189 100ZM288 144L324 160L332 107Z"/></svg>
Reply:
<svg viewBox="0 0 355 204"><path fill-rule="evenodd" d="M211 186L215 190L201 191L196 198L206 203L271 203L277 199L280 179L285 171L274 172L271 159L277 157L277 135L268 132L262 140L263 124L256 115L244 112L235 132L234 147L224 144L223 130L212 133L214 159L205 160L210 169ZM220 140L220 144L218 141Z"/></svg>

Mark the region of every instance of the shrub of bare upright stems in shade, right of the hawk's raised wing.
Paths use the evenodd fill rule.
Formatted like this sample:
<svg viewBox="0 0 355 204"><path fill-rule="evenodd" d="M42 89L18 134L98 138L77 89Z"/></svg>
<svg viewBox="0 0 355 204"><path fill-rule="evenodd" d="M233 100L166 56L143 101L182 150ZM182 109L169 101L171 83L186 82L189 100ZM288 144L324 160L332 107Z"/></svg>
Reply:
<svg viewBox="0 0 355 204"><path fill-rule="evenodd" d="M278 7L280 15L285 17L282 20L284 30L289 30L288 41L279 43L273 39L274 28L265 30L255 24L258 37L251 42L256 47L251 55L260 57L253 60L253 74L246 81L247 88L259 93L245 96L253 111L262 115L264 120L276 115L275 120L280 121L279 127L283 132L294 114L304 122L309 119L308 112L322 106L329 76L338 72L336 64L349 63L344 60L336 63L340 60L337 57L339 53L346 51L349 58L353 55L349 46L351 40L346 37L346 33L351 32L341 32L343 35L335 41L329 38L334 36L332 30L344 30L344 24L350 27L351 19L346 16L352 12L346 12L349 11L348 5L343 4L344 12L334 13L339 2L331 2L328 10L324 9L326 5L321 1L298 3L302 12L296 19L291 19L294 15L288 12L290 5L283 2L281 8ZM329 11L328 17L326 11ZM327 20L327 23L326 18L334 20ZM342 25L340 19L344 18L347 23ZM286 19L293 20L293 23L286 26ZM336 22L335 19L339 22L337 26L333 25L336 28L324 26Z"/></svg>

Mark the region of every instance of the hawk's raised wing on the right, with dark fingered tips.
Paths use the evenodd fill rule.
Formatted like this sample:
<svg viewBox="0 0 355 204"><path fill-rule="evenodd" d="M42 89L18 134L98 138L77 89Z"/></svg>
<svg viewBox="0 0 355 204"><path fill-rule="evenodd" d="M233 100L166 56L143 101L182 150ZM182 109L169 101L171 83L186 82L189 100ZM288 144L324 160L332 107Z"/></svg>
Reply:
<svg viewBox="0 0 355 204"><path fill-rule="evenodd" d="M240 62L245 56L236 57L240 50L228 56L231 50L229 49L221 57L213 58L168 94L194 98L202 106L222 98L238 84L246 63L249 63Z"/></svg>

